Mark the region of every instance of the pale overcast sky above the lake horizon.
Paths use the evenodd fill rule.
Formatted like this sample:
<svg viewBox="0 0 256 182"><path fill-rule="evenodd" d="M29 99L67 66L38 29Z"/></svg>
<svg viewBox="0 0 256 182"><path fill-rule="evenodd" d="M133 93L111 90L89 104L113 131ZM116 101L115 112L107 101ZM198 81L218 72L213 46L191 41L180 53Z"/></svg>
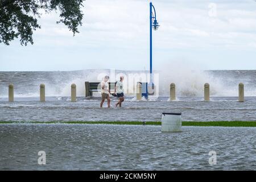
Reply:
<svg viewBox="0 0 256 182"><path fill-rule="evenodd" d="M153 69L256 69L254 0L155 0ZM34 45L0 44L0 71L144 70L149 67L149 1L86 0L80 34L43 14Z"/></svg>

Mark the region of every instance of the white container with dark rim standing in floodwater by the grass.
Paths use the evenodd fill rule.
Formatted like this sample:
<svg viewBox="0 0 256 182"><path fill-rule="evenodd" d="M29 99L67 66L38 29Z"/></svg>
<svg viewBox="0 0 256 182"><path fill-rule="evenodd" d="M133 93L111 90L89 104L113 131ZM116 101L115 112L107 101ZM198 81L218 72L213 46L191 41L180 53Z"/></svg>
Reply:
<svg viewBox="0 0 256 182"><path fill-rule="evenodd" d="M181 113L162 113L162 132L180 131Z"/></svg>

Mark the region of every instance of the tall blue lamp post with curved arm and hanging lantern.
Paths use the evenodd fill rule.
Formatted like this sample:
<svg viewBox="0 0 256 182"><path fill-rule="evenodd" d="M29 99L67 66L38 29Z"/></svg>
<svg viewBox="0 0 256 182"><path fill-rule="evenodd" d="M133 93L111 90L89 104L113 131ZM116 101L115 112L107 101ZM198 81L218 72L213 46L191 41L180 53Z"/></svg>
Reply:
<svg viewBox="0 0 256 182"><path fill-rule="evenodd" d="M155 7L152 5L152 2L150 2L150 83L149 83L149 86L153 90L154 90L154 83L153 83L153 77L152 77L152 29L158 30L159 26L160 25L156 20Z"/></svg>

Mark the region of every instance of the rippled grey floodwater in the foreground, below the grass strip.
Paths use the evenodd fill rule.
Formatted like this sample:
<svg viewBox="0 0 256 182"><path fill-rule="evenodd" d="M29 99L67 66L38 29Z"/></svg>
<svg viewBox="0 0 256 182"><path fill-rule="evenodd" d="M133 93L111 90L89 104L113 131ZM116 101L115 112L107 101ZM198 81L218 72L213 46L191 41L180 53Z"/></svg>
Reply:
<svg viewBox="0 0 256 182"><path fill-rule="evenodd" d="M255 170L256 129L160 126L0 125L1 170ZM46 165L38 152L46 152ZM217 164L209 164L210 151Z"/></svg>

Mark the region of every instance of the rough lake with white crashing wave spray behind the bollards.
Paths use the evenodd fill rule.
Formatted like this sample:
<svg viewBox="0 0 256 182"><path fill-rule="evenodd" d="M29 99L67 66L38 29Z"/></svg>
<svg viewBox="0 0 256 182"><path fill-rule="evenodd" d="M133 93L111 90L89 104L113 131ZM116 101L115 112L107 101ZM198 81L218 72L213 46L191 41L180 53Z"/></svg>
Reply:
<svg viewBox="0 0 256 182"><path fill-rule="evenodd" d="M117 81L120 75L129 75L129 73L143 73L144 71L115 71L114 76L109 69L96 69L72 72L50 72L47 73L33 73L34 75L24 80L10 80L3 81L7 78L2 78L0 83L0 97L6 98L8 96L8 84L14 82L15 97L39 97L39 85L44 83L46 85L47 97L70 97L71 84L75 83L77 86L77 96L85 96L85 81L100 82L105 75L110 75L112 81ZM244 82L245 96L256 96L256 83L252 80L251 72L248 71L221 71L219 74L212 71L200 71L184 64L165 65L164 69L155 71L159 73L159 96L170 96L170 84L176 84L176 97L203 97L204 84L210 84L211 97L237 97L238 83ZM242 73L243 75L238 75ZM10 73L13 74L13 73ZM20 74L19 72L15 73ZM23 73L24 74L24 73ZM246 75L247 74L247 75ZM253 74L255 74L253 72ZM50 75L50 76L49 76ZM19 78L19 77L17 77ZM30 78L30 79L29 79ZM15 78L16 79L16 78ZM17 83L15 83L17 82ZM134 85L127 85L128 79L125 78L125 90L132 90L132 93L125 93L126 96L135 98ZM158 85L155 85L158 86ZM93 93L94 96L100 96L100 93ZM154 100L151 99L150 100Z"/></svg>

